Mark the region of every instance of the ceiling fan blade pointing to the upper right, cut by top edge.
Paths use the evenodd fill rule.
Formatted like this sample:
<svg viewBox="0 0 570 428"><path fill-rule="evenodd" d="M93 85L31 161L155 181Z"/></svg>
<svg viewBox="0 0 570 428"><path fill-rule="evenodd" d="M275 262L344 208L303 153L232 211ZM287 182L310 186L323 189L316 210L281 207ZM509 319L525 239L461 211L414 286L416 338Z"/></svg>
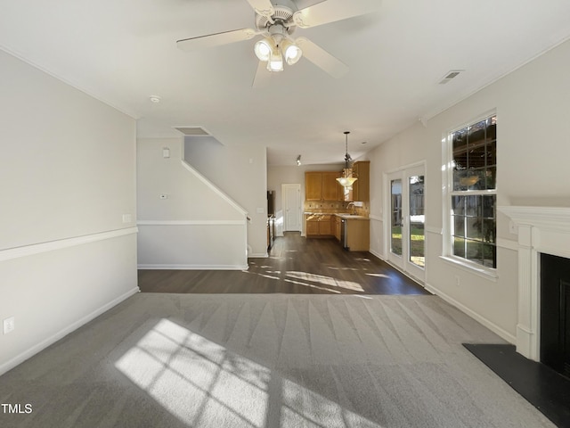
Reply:
<svg viewBox="0 0 570 428"><path fill-rule="evenodd" d="M295 12L293 21L297 27L308 29L378 11L381 4L381 0L328 0Z"/></svg>

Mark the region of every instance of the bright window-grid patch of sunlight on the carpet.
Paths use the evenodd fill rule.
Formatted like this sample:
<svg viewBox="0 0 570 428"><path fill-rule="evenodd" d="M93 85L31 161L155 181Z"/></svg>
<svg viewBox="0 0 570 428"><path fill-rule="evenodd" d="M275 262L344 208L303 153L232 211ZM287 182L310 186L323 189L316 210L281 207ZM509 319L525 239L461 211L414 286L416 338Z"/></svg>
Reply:
<svg viewBox="0 0 570 428"><path fill-rule="evenodd" d="M191 426L362 426L363 416L163 318L115 367Z"/></svg>

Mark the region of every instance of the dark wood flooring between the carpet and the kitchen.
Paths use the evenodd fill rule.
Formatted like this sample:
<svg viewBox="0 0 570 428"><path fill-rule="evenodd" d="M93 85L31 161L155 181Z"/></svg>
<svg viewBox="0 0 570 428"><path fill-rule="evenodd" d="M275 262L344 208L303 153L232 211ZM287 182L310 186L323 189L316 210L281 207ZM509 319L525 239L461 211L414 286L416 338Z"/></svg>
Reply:
<svg viewBox="0 0 570 428"><path fill-rule="evenodd" d="M248 270L139 270L142 292L429 294L367 251L344 251L335 239L289 232Z"/></svg>

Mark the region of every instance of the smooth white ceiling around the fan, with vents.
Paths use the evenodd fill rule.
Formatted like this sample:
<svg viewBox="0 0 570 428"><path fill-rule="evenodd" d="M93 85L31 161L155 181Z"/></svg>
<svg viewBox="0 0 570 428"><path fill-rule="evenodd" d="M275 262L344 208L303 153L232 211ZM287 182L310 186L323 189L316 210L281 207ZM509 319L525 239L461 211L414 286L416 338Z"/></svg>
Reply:
<svg viewBox="0 0 570 428"><path fill-rule="evenodd" d="M345 62L345 77L302 59L262 88L251 87L256 39L191 53L175 44L255 28L246 0L0 0L0 47L138 119L139 136L198 126L222 144L266 145L270 165L294 165L298 154L342 162L345 130L358 158L570 37L568 0L379 5L295 33Z"/></svg>

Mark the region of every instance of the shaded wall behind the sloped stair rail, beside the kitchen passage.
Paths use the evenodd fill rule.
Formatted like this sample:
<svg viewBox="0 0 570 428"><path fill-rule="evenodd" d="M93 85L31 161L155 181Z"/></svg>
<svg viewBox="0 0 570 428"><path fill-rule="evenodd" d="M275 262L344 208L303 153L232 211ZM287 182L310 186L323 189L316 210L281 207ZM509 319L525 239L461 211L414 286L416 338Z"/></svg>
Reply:
<svg viewBox="0 0 570 428"><path fill-rule="evenodd" d="M248 211L249 257L267 255L267 154L258 144L225 146L185 137L184 159ZM258 212L261 210L261 212Z"/></svg>

